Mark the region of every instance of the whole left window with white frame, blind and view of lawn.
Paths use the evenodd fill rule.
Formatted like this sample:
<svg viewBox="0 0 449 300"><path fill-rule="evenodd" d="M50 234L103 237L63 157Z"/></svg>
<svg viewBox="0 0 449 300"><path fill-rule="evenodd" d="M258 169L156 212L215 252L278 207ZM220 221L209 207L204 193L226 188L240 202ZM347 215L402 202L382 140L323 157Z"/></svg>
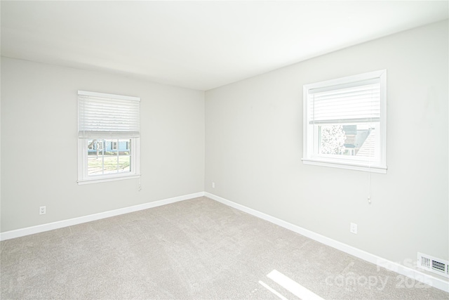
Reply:
<svg viewBox="0 0 449 300"><path fill-rule="evenodd" d="M78 91L78 183L140 176L140 98Z"/></svg>

